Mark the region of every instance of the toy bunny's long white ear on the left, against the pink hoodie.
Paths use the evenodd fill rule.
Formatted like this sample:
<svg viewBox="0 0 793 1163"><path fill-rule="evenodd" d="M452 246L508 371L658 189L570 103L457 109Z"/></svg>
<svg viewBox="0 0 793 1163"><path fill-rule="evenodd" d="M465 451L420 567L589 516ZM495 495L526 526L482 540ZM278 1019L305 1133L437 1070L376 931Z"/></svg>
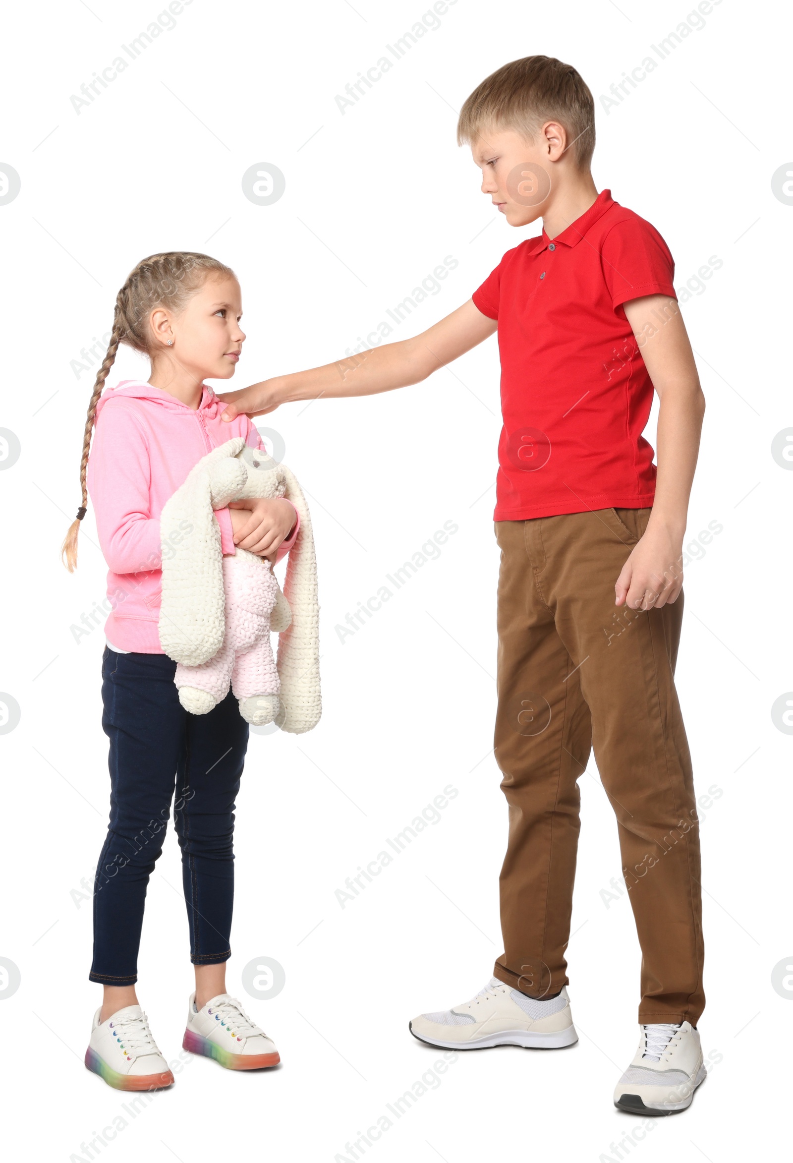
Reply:
<svg viewBox="0 0 793 1163"><path fill-rule="evenodd" d="M223 554L212 509L212 466L244 447L234 437L208 452L163 506L159 644L169 658L200 666L220 650L226 634Z"/></svg>

